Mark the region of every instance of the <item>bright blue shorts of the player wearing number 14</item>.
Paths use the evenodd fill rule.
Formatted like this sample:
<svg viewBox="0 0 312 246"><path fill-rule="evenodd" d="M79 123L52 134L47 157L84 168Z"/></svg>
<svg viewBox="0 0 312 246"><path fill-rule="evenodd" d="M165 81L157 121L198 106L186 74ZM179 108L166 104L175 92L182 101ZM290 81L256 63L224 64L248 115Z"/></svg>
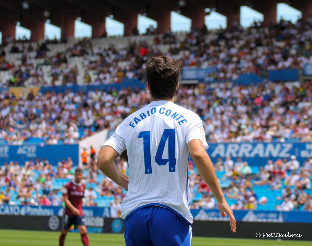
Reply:
<svg viewBox="0 0 312 246"><path fill-rule="evenodd" d="M124 239L126 246L190 246L192 227L167 208L147 206L126 218Z"/></svg>

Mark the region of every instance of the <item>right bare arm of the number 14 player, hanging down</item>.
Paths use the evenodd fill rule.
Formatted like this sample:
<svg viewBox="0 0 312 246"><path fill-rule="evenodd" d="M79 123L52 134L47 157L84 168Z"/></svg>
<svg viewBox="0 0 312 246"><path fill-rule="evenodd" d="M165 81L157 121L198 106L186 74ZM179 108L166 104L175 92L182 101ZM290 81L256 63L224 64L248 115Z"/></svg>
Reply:
<svg viewBox="0 0 312 246"><path fill-rule="evenodd" d="M227 204L210 157L203 148L202 141L199 139L191 140L188 142L188 150L203 181L205 181L213 195L216 197L217 206L221 215L223 217L225 214L229 216L232 232L236 232L236 220L233 211Z"/></svg>

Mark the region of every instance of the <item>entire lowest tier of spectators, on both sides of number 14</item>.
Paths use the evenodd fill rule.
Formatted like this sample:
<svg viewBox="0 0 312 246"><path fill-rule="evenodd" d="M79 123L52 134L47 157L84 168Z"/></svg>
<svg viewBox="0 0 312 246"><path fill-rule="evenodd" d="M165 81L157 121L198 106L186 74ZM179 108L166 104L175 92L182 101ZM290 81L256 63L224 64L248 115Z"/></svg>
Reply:
<svg viewBox="0 0 312 246"><path fill-rule="evenodd" d="M128 163L125 159L119 157L116 166L127 174ZM302 165L295 156L275 162L269 160L254 172L249 163L239 157L235 161L231 157L219 158L214 166L234 210L312 211L310 158ZM68 182L73 178L75 168L70 157L56 165L39 158L30 159L24 165L4 163L0 168L0 204L60 206L63 203L61 187L56 187L55 182ZM85 167L83 183L87 185L83 200L85 206L97 206L101 197L113 197L110 205L117 210L120 208L125 194L123 189L99 171L95 159L90 158ZM189 184L191 208L216 208L212 192L191 161ZM268 204L273 206L266 206Z"/></svg>

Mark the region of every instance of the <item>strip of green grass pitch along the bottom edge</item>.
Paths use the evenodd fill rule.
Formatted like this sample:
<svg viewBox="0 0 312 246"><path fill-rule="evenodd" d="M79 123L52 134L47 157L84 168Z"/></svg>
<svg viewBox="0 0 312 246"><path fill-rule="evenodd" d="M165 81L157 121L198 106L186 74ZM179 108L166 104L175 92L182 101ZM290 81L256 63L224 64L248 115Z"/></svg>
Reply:
<svg viewBox="0 0 312 246"><path fill-rule="evenodd" d="M0 230L1 246L57 246L60 233L41 231ZM122 246L123 234L89 234L90 246ZM64 246L82 246L80 234L68 233ZM193 237L193 246L311 246L312 241L266 240L266 239L225 239Z"/></svg>

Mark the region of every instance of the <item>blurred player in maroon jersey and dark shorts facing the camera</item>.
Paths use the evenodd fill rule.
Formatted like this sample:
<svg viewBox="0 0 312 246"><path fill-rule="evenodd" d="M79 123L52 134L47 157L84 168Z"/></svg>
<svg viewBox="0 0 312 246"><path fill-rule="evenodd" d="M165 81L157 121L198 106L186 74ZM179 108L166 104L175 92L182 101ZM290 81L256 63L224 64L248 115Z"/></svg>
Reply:
<svg viewBox="0 0 312 246"><path fill-rule="evenodd" d="M89 246L89 237L87 235L87 228L85 227L85 219L82 211L82 198L85 195L85 185L80 183L82 179L82 169L77 168L75 171L75 180L69 182L63 188L63 197L66 208L63 217L60 246L64 245L66 234L71 225L75 225L78 228L83 245Z"/></svg>

